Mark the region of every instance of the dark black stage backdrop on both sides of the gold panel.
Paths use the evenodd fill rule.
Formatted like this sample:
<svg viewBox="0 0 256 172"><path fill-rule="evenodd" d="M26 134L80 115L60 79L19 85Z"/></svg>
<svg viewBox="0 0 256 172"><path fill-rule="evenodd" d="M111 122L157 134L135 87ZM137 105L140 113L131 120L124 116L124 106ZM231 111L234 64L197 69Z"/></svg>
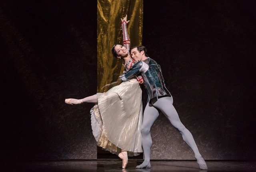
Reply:
<svg viewBox="0 0 256 172"><path fill-rule="evenodd" d="M256 159L255 9L144 0L143 45L207 160ZM64 104L96 93L96 29L97 1L0 1L0 159L97 158L93 104ZM194 159L164 115L151 133L152 159Z"/></svg>

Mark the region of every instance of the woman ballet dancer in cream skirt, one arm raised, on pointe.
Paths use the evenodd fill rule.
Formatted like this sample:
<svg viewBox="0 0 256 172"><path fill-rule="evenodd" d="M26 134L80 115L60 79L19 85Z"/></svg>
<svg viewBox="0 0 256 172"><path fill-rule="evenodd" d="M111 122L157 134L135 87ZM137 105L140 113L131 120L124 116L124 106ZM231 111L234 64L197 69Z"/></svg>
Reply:
<svg viewBox="0 0 256 172"><path fill-rule="evenodd" d="M128 71L135 63L129 53L130 39L127 32L127 15L122 20L123 45L115 44L112 54L123 60L124 70ZM122 82L104 93L97 93L82 99L68 98L66 104L94 103L91 109L92 132L97 145L106 151L117 154L126 168L128 156L142 152L142 89L141 76L130 82Z"/></svg>

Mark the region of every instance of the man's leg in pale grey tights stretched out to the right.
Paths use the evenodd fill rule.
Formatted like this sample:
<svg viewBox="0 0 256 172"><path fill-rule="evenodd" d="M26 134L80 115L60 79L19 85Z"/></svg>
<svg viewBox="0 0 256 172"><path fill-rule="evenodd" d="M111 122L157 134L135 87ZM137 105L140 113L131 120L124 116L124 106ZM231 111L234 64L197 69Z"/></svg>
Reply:
<svg viewBox="0 0 256 172"><path fill-rule="evenodd" d="M196 146L196 143L194 141L192 134L190 133L190 131L188 131L188 129L186 129L186 127L180 121L178 113L174 108L174 106L172 105L172 103L173 103L172 97L162 97L162 98L158 98L158 100L153 103L153 106L160 109L164 113L164 115L166 115L166 117L170 120L172 125L178 129L178 131L182 135L183 140L188 144L188 146L194 152L195 158L197 159L199 166L203 165L203 166L200 166L200 168L202 167L201 169L206 170L207 169L206 163L202 158L202 155L198 151L198 148Z"/></svg>

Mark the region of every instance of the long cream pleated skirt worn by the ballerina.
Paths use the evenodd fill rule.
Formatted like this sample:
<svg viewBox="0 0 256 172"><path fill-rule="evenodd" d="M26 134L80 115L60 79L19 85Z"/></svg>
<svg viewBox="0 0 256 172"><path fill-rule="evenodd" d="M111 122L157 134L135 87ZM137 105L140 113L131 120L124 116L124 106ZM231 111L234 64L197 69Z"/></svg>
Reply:
<svg viewBox="0 0 256 172"><path fill-rule="evenodd" d="M136 79L122 82L104 93L91 109L92 133L97 145L113 154L142 152L142 89Z"/></svg>

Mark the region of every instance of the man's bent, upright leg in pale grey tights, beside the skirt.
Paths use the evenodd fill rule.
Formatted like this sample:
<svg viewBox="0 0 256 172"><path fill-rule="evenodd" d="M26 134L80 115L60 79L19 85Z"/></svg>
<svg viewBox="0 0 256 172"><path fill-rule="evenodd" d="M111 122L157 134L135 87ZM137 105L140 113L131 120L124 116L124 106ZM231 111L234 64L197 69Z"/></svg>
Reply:
<svg viewBox="0 0 256 172"><path fill-rule="evenodd" d="M154 108L152 104L148 103L144 110L143 122L141 126L142 134L142 147L144 152L144 162L136 168L150 168L150 149L152 146L152 138L150 135L150 129L157 117L159 116L158 109Z"/></svg>

